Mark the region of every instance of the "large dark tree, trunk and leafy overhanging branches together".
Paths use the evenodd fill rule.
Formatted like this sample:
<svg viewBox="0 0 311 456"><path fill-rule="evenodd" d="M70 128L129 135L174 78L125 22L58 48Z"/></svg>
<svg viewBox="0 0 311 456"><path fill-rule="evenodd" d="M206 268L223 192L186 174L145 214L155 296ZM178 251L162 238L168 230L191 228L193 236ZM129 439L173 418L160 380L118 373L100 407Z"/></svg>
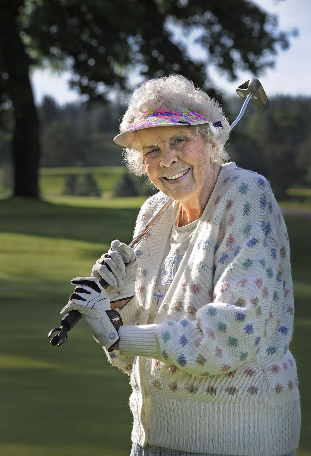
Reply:
<svg viewBox="0 0 311 456"><path fill-rule="evenodd" d="M194 29L207 61L189 55L174 33ZM294 32L247 0L2 0L0 4L1 109L13 104L15 194L36 197L39 124L29 69L71 68L71 87L88 104L129 89L129 75L157 78L181 73L215 95L208 65L229 78L240 68L254 75L274 64ZM27 179L25 178L27 175Z"/></svg>

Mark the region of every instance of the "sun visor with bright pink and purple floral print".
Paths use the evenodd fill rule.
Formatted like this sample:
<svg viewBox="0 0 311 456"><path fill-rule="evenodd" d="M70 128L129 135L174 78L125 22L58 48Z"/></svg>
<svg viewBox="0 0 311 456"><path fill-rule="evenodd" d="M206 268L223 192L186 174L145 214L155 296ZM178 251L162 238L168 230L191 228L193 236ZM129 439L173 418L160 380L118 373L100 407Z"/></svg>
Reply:
<svg viewBox="0 0 311 456"><path fill-rule="evenodd" d="M128 147L134 139L134 131L136 130L150 127L162 127L166 125L186 125L187 127L190 127L191 125L196 124L210 124L215 128L223 128L220 120L213 123L211 120L205 119L202 114L194 111L148 111L126 131L117 135L114 138L114 142L116 144L123 145L124 147Z"/></svg>

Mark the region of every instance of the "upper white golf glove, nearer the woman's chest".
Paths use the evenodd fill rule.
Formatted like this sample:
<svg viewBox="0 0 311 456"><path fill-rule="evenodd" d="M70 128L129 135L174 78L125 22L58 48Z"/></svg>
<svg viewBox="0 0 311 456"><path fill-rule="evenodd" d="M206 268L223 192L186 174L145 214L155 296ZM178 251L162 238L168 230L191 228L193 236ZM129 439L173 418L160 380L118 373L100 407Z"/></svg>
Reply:
<svg viewBox="0 0 311 456"><path fill-rule="evenodd" d="M104 279L109 286L106 293L110 302L133 298L138 260L133 249L114 240L107 254L102 255L92 268L92 275L99 283Z"/></svg>

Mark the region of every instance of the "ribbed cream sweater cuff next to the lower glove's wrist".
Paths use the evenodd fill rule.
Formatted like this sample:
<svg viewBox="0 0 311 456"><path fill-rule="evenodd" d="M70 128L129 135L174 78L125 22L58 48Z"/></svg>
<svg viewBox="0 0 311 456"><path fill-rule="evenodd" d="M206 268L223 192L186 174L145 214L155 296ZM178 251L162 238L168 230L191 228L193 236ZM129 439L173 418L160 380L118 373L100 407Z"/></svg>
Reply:
<svg viewBox="0 0 311 456"><path fill-rule="evenodd" d="M155 332L156 326L121 326L119 329L120 355L157 358L160 354L160 345Z"/></svg>

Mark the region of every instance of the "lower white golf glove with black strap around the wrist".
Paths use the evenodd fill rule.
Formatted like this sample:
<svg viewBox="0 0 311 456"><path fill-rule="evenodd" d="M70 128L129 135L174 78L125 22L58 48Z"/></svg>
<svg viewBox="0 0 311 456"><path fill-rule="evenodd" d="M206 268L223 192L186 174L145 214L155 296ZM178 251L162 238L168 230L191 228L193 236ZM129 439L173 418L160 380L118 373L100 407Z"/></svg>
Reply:
<svg viewBox="0 0 311 456"><path fill-rule="evenodd" d="M78 311L87 321L96 342L112 352L112 347L120 340L118 330L122 319L119 312L110 309L109 297L94 277L75 277L71 283L78 286L69 296L61 315Z"/></svg>

